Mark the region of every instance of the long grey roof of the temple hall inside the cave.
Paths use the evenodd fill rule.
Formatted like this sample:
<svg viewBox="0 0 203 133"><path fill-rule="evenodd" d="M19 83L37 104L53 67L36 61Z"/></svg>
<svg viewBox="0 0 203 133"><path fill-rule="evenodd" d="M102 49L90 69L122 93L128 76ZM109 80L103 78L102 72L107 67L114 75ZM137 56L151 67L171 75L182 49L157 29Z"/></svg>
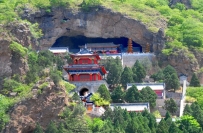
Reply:
<svg viewBox="0 0 203 133"><path fill-rule="evenodd" d="M120 44L114 44L113 42L110 43L87 43L87 48L100 48L100 47L119 47ZM79 46L80 48L84 48L85 45Z"/></svg>

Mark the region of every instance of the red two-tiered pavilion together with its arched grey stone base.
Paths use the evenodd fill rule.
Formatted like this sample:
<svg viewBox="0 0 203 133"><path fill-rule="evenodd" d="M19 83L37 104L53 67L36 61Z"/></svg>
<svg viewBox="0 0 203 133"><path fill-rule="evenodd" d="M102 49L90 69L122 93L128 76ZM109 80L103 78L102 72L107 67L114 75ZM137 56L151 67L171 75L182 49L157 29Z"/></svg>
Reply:
<svg viewBox="0 0 203 133"><path fill-rule="evenodd" d="M103 80L107 71L104 66L98 64L98 54L85 47L76 54L70 54L70 57L73 64L65 65L63 68L68 73L69 82L75 84L75 91L80 96L96 92L101 84L108 88L108 84Z"/></svg>

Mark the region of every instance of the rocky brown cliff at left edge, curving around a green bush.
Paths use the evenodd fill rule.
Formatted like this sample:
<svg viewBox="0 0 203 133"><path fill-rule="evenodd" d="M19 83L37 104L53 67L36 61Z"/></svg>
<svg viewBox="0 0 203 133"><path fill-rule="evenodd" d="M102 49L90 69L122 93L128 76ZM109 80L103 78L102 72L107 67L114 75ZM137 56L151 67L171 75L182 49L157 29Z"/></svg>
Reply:
<svg viewBox="0 0 203 133"><path fill-rule="evenodd" d="M28 70L26 59L16 57L9 45L16 41L25 47L36 46L36 40L32 38L29 27L25 23L13 22L6 26L1 25L0 32L0 89L2 80L13 74L24 75Z"/></svg>

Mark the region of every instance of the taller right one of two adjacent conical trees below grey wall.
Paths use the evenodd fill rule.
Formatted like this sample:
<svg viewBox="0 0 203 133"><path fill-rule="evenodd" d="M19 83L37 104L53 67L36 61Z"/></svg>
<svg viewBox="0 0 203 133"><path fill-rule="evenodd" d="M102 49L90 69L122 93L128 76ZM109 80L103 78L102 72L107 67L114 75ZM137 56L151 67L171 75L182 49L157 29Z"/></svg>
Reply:
<svg viewBox="0 0 203 133"><path fill-rule="evenodd" d="M144 66L139 62L139 60L135 62L132 71L137 76L137 79L134 82L142 82L142 79L146 76L146 70Z"/></svg>

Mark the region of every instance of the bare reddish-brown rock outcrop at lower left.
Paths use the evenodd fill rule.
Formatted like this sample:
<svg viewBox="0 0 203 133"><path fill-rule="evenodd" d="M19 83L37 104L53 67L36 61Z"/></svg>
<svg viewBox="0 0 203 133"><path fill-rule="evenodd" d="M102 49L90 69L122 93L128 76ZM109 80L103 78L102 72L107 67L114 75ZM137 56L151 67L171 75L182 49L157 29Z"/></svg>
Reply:
<svg viewBox="0 0 203 133"><path fill-rule="evenodd" d="M11 109L10 122L4 133L29 133L35 129L36 123L46 128L50 121L59 120L58 114L66 105L66 93L53 82L50 82L40 95L36 94L37 88L32 92L32 98L16 104Z"/></svg>

